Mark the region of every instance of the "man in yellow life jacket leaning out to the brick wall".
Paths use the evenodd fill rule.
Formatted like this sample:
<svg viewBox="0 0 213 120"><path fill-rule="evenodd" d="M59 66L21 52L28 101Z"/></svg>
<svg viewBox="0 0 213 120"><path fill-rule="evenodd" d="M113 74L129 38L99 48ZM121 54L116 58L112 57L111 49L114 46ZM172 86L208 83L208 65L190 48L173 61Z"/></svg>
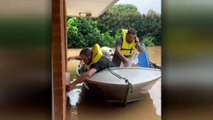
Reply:
<svg viewBox="0 0 213 120"><path fill-rule="evenodd" d="M102 55L102 51L98 44L95 44L92 49L82 49L79 56L71 56L67 58L68 61L71 59L82 60L87 68L87 71L82 73L78 79L68 84L66 86L67 91L70 91L75 87L76 84L85 81L96 72L113 67L113 64L110 62L110 60Z"/></svg>

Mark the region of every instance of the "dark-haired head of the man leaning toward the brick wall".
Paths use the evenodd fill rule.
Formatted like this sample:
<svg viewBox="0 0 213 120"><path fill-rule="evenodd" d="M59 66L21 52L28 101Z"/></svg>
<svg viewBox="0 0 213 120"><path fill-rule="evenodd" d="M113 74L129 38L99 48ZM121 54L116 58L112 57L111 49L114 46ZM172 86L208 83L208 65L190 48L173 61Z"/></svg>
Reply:
<svg viewBox="0 0 213 120"><path fill-rule="evenodd" d="M80 52L80 57L81 60L88 65L92 61L92 50L90 48L82 49Z"/></svg>

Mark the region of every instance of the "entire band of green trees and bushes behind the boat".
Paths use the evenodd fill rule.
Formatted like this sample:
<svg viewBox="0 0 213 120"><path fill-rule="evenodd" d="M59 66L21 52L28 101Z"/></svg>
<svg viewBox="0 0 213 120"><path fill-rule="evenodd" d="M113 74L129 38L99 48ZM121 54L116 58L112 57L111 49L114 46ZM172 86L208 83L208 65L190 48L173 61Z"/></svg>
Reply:
<svg viewBox="0 0 213 120"><path fill-rule="evenodd" d="M134 28L140 42L147 46L161 45L161 15L153 10L140 14L131 4L118 4L97 19L67 17L69 48L100 46L114 47L121 37L120 30Z"/></svg>

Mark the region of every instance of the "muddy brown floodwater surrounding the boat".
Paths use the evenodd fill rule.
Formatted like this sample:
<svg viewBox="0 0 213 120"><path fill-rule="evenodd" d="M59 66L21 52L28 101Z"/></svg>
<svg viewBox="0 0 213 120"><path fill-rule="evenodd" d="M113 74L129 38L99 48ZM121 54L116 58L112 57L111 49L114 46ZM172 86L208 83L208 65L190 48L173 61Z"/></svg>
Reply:
<svg viewBox="0 0 213 120"><path fill-rule="evenodd" d="M149 59L161 66L161 47L146 49ZM78 55L80 50L69 49L68 56ZM75 78L77 63L78 61L73 60L67 64L70 79ZM107 103L80 88L69 94L74 96L75 101L67 100L66 120L161 120L161 80L155 83L142 100L126 106Z"/></svg>

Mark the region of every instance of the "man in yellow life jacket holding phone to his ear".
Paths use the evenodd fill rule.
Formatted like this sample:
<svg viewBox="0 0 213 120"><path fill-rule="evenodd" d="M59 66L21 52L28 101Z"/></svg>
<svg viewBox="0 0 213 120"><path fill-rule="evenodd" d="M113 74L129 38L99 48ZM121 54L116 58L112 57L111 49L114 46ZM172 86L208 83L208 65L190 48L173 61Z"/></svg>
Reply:
<svg viewBox="0 0 213 120"><path fill-rule="evenodd" d="M143 52L143 48L137 37L137 31L133 28L122 29L122 37L120 37L115 44L115 53L112 59L116 67L123 62L124 66L128 66L131 62L130 58L133 56L135 49L138 52Z"/></svg>

